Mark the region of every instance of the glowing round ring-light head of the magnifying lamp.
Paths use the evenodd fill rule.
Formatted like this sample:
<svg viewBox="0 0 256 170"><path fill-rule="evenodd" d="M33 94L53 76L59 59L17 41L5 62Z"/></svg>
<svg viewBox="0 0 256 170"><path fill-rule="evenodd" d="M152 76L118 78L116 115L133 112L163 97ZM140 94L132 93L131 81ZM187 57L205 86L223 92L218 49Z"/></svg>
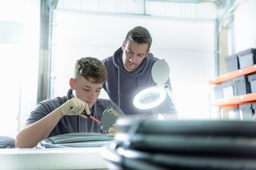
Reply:
<svg viewBox="0 0 256 170"><path fill-rule="evenodd" d="M166 91L162 86L146 88L133 99L133 105L139 109L151 109L158 106L166 98Z"/></svg>

